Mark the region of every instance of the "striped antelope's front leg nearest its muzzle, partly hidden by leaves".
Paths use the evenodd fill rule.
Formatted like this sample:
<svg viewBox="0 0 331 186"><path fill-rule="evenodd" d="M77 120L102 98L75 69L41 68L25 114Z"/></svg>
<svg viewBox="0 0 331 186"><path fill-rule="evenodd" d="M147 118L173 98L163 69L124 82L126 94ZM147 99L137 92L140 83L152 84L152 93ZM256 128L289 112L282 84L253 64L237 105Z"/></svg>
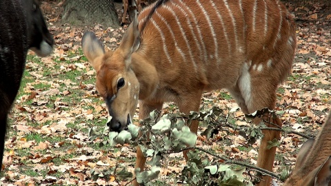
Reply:
<svg viewBox="0 0 331 186"><path fill-rule="evenodd" d="M148 118L150 112L153 110L159 110L161 111L163 103L144 103L143 101L139 102L139 120ZM140 123L139 123L140 125ZM149 140L149 139L148 139ZM146 164L146 157L143 156L143 152L141 151L140 147L137 146L137 159L136 159L136 165L134 168L140 168L140 171L142 172L145 168ZM137 180L133 180L132 185L138 186L139 183Z"/></svg>

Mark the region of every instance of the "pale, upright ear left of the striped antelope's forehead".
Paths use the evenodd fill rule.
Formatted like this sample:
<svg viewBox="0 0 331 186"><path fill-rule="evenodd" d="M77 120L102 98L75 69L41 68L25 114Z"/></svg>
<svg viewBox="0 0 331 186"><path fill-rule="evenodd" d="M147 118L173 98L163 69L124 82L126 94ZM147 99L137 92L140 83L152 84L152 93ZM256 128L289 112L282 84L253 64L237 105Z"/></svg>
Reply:
<svg viewBox="0 0 331 186"><path fill-rule="evenodd" d="M94 33L86 32L81 39L81 47L94 70L98 72L102 63L101 57L105 54L101 41L95 37Z"/></svg>

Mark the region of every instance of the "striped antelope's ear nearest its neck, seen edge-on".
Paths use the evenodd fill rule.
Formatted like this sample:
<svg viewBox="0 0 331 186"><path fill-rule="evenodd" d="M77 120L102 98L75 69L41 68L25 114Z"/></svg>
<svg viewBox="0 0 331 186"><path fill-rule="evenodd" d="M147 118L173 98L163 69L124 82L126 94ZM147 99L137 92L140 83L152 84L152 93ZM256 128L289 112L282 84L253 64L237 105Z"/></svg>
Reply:
<svg viewBox="0 0 331 186"><path fill-rule="evenodd" d="M139 48L140 45L139 34L140 32L138 28L138 20L137 17L134 17L134 20L129 25L128 30L126 30L126 34L123 35L121 44L117 49L119 50L119 52L121 52L124 59L130 59L131 54ZM130 61L130 60L126 60L126 61Z"/></svg>

